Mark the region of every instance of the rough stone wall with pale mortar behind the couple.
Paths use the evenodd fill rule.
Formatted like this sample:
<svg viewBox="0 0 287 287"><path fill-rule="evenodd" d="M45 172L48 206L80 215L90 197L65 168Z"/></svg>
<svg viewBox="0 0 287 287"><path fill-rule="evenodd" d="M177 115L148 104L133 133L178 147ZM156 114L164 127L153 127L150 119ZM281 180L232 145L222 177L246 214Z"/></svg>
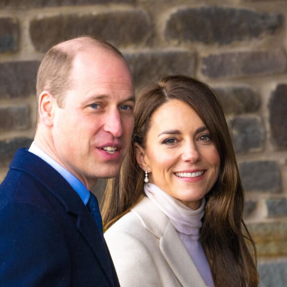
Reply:
<svg viewBox="0 0 287 287"><path fill-rule="evenodd" d="M15 150L33 139L44 53L61 40L99 35L125 54L137 89L162 74L186 74L216 90L261 286L286 286L286 19L287 0L0 0L0 181Z"/></svg>

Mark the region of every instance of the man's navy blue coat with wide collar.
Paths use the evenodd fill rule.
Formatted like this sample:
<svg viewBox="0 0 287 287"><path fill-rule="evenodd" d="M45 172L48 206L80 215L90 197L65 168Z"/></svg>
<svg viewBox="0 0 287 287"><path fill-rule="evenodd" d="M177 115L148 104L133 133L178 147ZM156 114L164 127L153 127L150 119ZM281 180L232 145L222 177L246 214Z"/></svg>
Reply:
<svg viewBox="0 0 287 287"><path fill-rule="evenodd" d="M119 286L87 206L25 149L0 185L0 286Z"/></svg>

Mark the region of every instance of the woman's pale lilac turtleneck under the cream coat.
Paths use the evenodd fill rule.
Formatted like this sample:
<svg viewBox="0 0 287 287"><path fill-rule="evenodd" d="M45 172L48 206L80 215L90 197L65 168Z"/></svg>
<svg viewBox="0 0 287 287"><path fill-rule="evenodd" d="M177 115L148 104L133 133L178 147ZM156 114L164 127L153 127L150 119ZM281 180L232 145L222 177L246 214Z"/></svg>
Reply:
<svg viewBox="0 0 287 287"><path fill-rule="evenodd" d="M196 210L162 191L156 185L144 185L146 196L169 218L182 239L197 270L208 287L214 287L209 264L199 241L199 230L204 216L205 198Z"/></svg>

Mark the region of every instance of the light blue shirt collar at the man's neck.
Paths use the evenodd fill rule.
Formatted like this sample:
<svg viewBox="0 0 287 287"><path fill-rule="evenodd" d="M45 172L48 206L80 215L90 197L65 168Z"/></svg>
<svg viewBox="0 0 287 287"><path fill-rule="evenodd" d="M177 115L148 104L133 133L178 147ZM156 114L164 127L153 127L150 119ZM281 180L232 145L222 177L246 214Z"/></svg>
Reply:
<svg viewBox="0 0 287 287"><path fill-rule="evenodd" d="M86 205L90 198L90 191L84 186L84 184L68 172L64 167L53 160L47 153L40 149L34 142L31 144L29 151L46 161L52 168L54 168L79 194L84 204Z"/></svg>

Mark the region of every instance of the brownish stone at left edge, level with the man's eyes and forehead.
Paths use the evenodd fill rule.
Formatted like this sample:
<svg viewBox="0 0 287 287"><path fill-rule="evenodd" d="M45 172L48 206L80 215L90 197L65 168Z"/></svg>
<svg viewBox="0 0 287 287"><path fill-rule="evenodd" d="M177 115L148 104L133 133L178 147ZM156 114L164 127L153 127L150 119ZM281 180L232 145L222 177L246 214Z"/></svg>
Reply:
<svg viewBox="0 0 287 287"><path fill-rule="evenodd" d="M0 99L36 95L38 61L0 63Z"/></svg>

